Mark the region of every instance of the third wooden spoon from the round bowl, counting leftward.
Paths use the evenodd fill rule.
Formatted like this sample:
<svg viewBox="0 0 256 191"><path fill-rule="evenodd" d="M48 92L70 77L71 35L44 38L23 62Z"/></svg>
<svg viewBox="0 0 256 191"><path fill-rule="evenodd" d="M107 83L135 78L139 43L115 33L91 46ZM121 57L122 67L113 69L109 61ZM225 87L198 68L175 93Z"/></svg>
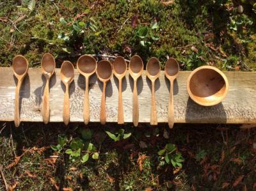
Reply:
<svg viewBox="0 0 256 191"><path fill-rule="evenodd" d="M134 126L138 126L139 123L139 104L138 104L138 91L137 80L143 72L143 61L138 55L134 55L131 58L129 64L129 73L134 80L133 95L132 95L132 122Z"/></svg>

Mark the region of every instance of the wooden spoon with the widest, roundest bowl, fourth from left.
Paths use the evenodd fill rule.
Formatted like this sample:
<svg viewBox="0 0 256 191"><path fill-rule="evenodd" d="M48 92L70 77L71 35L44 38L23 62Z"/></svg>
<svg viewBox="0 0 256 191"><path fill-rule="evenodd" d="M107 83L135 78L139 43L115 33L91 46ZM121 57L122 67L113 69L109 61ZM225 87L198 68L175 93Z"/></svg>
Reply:
<svg viewBox="0 0 256 191"><path fill-rule="evenodd" d="M89 78L96 71L97 62L92 56L83 55L77 60L77 70L85 79L84 93L84 123L87 125L90 121L90 103L89 103Z"/></svg>

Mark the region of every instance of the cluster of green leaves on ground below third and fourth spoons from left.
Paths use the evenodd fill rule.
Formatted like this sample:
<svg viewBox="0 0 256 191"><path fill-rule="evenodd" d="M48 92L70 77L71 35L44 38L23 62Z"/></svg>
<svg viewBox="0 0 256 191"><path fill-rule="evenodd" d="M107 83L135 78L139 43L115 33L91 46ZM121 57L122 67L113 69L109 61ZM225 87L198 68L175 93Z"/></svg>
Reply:
<svg viewBox="0 0 256 191"><path fill-rule="evenodd" d="M59 153L65 150L65 153L69 155L72 162L80 159L82 163L85 163L89 160L90 156L94 160L99 159L97 148L90 142L92 139L92 130L89 128L81 130L81 136L82 139L76 137L68 140L66 135L59 135L58 144L56 146L51 146L51 148Z"/></svg>

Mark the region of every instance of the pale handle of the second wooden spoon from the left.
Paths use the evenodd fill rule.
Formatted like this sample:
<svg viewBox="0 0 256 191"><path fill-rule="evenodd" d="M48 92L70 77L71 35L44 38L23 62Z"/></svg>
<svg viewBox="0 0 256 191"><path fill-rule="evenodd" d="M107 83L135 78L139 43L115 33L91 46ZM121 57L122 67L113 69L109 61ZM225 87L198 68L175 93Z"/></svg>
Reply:
<svg viewBox="0 0 256 191"><path fill-rule="evenodd" d="M50 107L49 107L49 79L46 79L44 96L43 96L43 121L45 124L49 122L50 118Z"/></svg>

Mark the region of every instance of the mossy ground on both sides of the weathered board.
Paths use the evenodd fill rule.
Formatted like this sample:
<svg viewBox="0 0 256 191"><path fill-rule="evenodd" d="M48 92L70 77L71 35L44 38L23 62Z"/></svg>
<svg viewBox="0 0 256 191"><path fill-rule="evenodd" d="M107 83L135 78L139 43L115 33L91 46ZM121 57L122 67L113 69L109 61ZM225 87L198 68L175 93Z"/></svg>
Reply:
<svg viewBox="0 0 256 191"><path fill-rule="evenodd" d="M256 70L253 1L175 0L165 5L157 0L45 0L36 1L30 9L29 2L0 2L0 66L11 66L13 57L22 54L29 66L39 67L42 55L51 52L59 68L63 60L75 64L81 54L126 59L138 54L144 63L158 57L162 66L166 57L175 57L182 70L200 65ZM242 14L237 13L239 4L244 8ZM256 189L255 129L177 125L168 130L159 125L156 135L154 128L144 124L138 129L125 125L125 129L134 129L129 139L99 142L97 135L116 125L90 125L100 157L82 164L71 162L64 151L51 149L58 134L79 137L77 126L83 124L22 123L15 129L12 123L1 123L0 164L8 184L17 183L17 190L54 190L56 186L60 190ZM163 136L164 128L168 139ZM141 141L147 148L140 146ZM163 165L164 159L157 155L167 143L175 144L184 157L181 169ZM8 168L20 155L19 162ZM142 171L141 155L147 156Z"/></svg>

